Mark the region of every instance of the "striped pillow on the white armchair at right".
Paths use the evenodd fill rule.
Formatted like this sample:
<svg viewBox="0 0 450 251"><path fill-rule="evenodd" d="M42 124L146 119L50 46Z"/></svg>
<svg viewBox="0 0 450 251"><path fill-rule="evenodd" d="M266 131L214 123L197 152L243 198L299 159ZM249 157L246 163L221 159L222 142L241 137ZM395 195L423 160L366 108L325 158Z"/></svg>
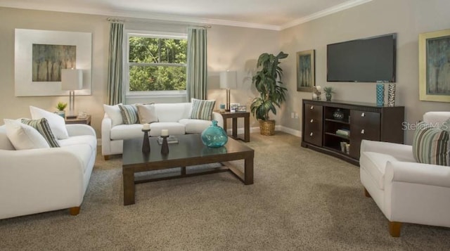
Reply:
<svg viewBox="0 0 450 251"><path fill-rule="evenodd" d="M450 165L449 133L419 122L413 136L413 155L417 162L432 165Z"/></svg>

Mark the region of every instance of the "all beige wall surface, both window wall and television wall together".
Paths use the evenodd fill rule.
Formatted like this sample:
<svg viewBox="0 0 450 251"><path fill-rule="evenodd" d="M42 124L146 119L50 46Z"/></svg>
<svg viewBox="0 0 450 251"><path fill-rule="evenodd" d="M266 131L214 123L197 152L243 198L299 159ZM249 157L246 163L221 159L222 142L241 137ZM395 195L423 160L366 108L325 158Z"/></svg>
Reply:
<svg viewBox="0 0 450 251"><path fill-rule="evenodd" d="M326 82L326 45L397 32L397 105L406 107L406 121L416 122L423 112L429 110L449 110L449 103L418 100L418 34L449 29L449 9L450 1L447 0L376 0L281 32L214 25L208 30L208 98L216 99L217 104L225 103L225 90L219 89L219 72L236 70L238 89L231 90L231 102L250 108L252 98L257 96L251 85L257 57L263 52L284 51L289 53L289 57L281 63L283 82L289 90L288 100L282 109L278 109L276 120L284 129L300 134L301 101L302 98L310 98L311 94L296 90L295 53L316 50L316 84L335 87L336 100L373 103L373 83ZM53 111L58 101L68 101L67 96L15 97L15 28L92 32L92 95L77 96L76 105L77 110L93 115L92 123L100 136L108 67L109 22L106 18L101 15L0 8L0 119L29 117L29 105ZM185 25L128 23L126 27L179 31ZM291 119L291 112L296 112L299 119ZM257 127L253 118L252 127ZM411 142L411 137L411 131L408 131L406 143Z"/></svg>

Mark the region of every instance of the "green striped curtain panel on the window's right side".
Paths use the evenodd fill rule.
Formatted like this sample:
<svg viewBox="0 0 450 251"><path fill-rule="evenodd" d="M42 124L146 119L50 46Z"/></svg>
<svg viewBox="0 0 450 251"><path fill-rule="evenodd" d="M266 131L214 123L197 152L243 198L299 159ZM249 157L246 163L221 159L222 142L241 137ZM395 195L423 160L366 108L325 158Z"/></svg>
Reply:
<svg viewBox="0 0 450 251"><path fill-rule="evenodd" d="M207 29L188 28L188 68L186 70L186 90L188 102L191 98L206 99L207 82Z"/></svg>

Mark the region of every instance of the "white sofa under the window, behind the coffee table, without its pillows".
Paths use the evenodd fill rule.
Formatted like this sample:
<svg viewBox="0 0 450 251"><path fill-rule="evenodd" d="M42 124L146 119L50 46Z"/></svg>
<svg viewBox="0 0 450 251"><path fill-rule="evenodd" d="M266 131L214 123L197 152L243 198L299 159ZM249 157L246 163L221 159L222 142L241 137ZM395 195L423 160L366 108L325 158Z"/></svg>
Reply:
<svg viewBox="0 0 450 251"><path fill-rule="evenodd" d="M169 135L200 134L211 125L210 120L192 120L192 103L155 103L158 122L150 123L150 136L160 136L162 129ZM219 112L212 112L212 120L224 127L224 119ZM122 154L123 140L143 137L142 124L118 124L113 126L111 118L105 112L101 122L101 153L108 160L109 155Z"/></svg>

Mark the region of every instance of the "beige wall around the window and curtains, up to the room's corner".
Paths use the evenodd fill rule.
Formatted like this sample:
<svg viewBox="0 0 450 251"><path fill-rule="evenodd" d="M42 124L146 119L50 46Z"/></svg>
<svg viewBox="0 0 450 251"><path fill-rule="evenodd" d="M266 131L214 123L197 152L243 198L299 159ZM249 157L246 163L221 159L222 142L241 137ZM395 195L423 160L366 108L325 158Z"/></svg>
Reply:
<svg viewBox="0 0 450 251"><path fill-rule="evenodd" d="M4 118L30 117L29 105L56 111L58 101L68 102L68 96L15 97L14 29L91 32L92 95L77 96L75 102L77 110L92 115L92 126L100 137L108 79L109 22L106 18L101 15L0 8L0 124L4 124ZM172 32L182 32L186 28L186 25L145 22L126 23L125 26L131 30ZM250 84L256 58L264 51L276 53L277 48L278 32L214 25L208 30L208 98L225 103L225 91L219 89L219 72L237 70L238 89L231 91L231 102L249 104L255 96L250 91Z"/></svg>

